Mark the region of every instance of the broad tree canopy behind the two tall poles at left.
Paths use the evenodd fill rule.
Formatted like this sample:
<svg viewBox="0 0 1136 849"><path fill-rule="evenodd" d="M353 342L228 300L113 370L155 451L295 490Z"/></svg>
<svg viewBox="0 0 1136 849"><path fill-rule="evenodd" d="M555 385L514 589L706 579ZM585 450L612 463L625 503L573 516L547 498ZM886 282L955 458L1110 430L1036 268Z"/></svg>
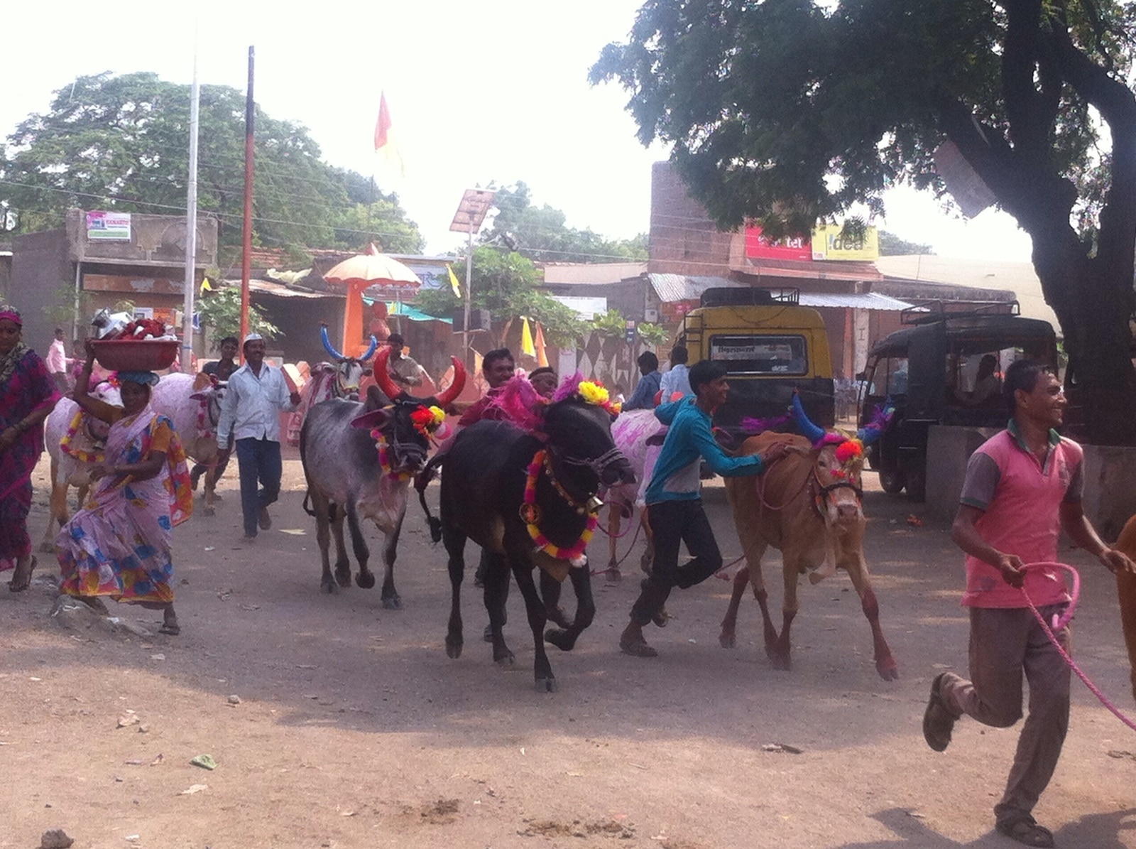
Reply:
<svg viewBox="0 0 1136 849"><path fill-rule="evenodd" d="M222 244L241 241L244 101L236 89L201 86L198 207L218 217ZM259 107L254 120L257 244L421 251L396 195L324 163L303 126ZM0 145L0 222L59 226L68 207L184 215L189 130L189 85L152 73L81 76Z"/></svg>

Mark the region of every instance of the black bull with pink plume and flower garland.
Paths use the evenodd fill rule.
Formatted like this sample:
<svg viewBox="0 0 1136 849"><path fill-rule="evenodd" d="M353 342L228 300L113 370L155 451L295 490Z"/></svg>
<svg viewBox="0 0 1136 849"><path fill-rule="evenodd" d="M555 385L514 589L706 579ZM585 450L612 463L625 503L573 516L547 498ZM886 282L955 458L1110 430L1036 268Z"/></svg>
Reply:
<svg viewBox="0 0 1136 849"><path fill-rule="evenodd" d="M543 640L563 651L571 649L576 638L592 623L595 602L586 561L573 566L568 574L576 592L576 614L567 629L551 629L542 639L548 616L533 582L533 567L560 571L562 577L566 560L536 550L521 518L528 467L540 450L548 451L551 474L542 468L536 476L536 524L550 542L563 548L580 539L593 506L590 502L601 484L629 482L634 475L627 458L612 442L611 417L601 407L585 403L578 397L550 405L544 413L543 434L546 439L542 440L507 422L478 422L459 433L444 460L441 536L449 555L452 588L446 654L452 658L461 656L461 581L468 538L486 551L503 556L490 558L485 575L485 607L490 614L494 661L513 661L501 635L511 572L525 598L533 631L536 689L551 691L556 677Z"/></svg>

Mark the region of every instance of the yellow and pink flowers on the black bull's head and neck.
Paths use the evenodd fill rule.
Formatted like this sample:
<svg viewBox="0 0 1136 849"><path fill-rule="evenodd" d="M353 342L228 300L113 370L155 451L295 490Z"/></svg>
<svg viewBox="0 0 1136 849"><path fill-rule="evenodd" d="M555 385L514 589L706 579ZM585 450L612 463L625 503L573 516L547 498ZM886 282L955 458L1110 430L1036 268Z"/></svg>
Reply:
<svg viewBox="0 0 1136 849"><path fill-rule="evenodd" d="M585 403L601 407L612 417L619 415L620 406L610 400L608 390L599 381L580 380L576 373L561 384L553 396L553 403L566 400L573 396L579 398ZM543 472L543 475L542 475ZM553 468L553 456L549 448L541 448L533 455L532 461L525 471L525 493L520 505L520 519L525 523L525 530L537 551L543 551L549 557L558 560L568 560L573 566L583 566L587 563L584 551L587 543L595 534L599 524L599 509L602 505L595 492L588 493L584 500L573 496L563 483L557 477ZM566 501L577 516L585 517L584 527L574 542L566 546L558 546L552 542L541 530L541 522L544 518L538 499L538 488L544 482L543 489L551 488L557 496ZM549 493L545 492L548 497Z"/></svg>

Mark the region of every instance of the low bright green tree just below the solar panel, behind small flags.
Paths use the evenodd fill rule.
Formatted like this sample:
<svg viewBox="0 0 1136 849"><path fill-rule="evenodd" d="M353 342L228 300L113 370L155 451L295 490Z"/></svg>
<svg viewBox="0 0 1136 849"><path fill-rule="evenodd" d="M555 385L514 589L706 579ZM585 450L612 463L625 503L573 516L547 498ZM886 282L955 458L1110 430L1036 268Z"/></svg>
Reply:
<svg viewBox="0 0 1136 849"><path fill-rule="evenodd" d="M563 303L538 289L541 270L516 251L502 252L488 245L474 248L471 269L477 309L487 309L496 330L496 344L504 344L513 322L520 316L535 318L544 326L550 344L575 344L587 330L585 322ZM449 286L418 293L417 307L432 316L452 316L461 309Z"/></svg>

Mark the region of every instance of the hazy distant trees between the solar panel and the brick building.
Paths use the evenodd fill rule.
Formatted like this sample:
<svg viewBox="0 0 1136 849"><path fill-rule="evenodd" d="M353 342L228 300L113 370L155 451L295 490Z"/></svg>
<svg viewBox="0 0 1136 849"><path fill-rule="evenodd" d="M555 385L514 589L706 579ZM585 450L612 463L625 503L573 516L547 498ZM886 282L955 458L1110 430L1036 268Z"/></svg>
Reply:
<svg viewBox="0 0 1136 849"><path fill-rule="evenodd" d="M605 239L588 228L567 226L567 217L548 203L535 206L524 182L499 189L496 215L482 233L483 243L500 244L535 263L619 263L646 260L646 234Z"/></svg>

